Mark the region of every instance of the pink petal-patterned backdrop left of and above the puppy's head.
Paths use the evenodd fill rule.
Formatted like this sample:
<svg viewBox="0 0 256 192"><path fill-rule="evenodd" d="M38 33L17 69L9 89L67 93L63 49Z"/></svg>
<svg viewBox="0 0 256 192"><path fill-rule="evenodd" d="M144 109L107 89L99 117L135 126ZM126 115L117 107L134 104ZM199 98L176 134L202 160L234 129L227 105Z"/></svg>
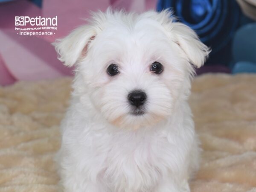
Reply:
<svg viewBox="0 0 256 192"><path fill-rule="evenodd" d="M89 11L108 6L143 12L155 9L157 0L43 0L42 9L28 0L0 3L0 85L18 80L52 79L72 75L57 59L51 45L72 29L84 24ZM52 36L21 36L15 31L15 16L58 16L58 30ZM21 28L21 26L19 26ZM29 27L29 26L27 26ZM32 26L31 26L32 27Z"/></svg>

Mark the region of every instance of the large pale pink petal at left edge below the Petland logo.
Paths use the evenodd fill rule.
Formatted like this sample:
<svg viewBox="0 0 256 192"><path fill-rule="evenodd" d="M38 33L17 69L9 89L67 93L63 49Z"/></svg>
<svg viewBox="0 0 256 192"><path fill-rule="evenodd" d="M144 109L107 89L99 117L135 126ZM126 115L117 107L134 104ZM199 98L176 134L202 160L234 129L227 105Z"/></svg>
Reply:
<svg viewBox="0 0 256 192"><path fill-rule="evenodd" d="M15 79L39 80L70 75L56 57L54 47L35 36L17 36L15 32L2 31L0 47L5 62Z"/></svg>

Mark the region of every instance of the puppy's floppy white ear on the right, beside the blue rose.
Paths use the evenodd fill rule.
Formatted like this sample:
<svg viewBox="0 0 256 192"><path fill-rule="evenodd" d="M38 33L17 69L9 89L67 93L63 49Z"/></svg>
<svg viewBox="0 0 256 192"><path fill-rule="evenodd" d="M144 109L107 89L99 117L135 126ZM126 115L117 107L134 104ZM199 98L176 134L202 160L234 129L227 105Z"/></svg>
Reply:
<svg viewBox="0 0 256 192"><path fill-rule="evenodd" d="M195 67L201 67L211 50L203 44L197 34L183 23L172 23L174 41L185 52L188 60Z"/></svg>

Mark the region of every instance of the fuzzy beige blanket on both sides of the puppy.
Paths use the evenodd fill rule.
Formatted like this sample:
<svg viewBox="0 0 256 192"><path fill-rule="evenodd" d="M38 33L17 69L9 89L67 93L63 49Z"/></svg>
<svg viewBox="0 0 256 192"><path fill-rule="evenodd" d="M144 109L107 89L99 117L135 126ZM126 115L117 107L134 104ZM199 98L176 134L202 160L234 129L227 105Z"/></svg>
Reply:
<svg viewBox="0 0 256 192"><path fill-rule="evenodd" d="M52 158L70 82L0 87L0 192L58 191ZM256 76L198 76L190 103L204 149L192 192L256 192Z"/></svg>

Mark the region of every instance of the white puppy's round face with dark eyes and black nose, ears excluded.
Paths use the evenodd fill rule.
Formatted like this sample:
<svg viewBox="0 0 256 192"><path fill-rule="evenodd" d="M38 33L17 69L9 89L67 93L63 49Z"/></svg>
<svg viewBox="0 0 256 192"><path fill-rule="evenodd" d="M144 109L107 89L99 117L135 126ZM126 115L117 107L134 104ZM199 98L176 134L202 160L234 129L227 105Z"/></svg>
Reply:
<svg viewBox="0 0 256 192"><path fill-rule="evenodd" d="M117 126L136 128L170 116L186 70L177 47L151 20L131 30L109 26L91 42L79 70L91 101Z"/></svg>

